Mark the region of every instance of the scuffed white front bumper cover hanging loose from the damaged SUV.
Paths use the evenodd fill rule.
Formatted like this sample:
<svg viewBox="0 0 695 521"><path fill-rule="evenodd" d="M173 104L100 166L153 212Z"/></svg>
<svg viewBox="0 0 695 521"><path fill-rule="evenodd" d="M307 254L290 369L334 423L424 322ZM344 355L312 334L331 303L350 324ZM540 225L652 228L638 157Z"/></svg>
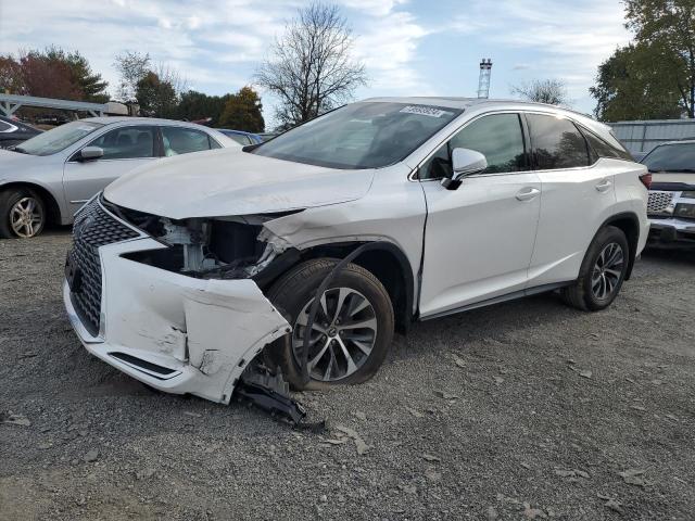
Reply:
<svg viewBox="0 0 695 521"><path fill-rule="evenodd" d="M98 334L63 301L89 353L161 391L229 403L243 369L290 326L252 280L201 280L121 257L165 247L141 237L98 249Z"/></svg>

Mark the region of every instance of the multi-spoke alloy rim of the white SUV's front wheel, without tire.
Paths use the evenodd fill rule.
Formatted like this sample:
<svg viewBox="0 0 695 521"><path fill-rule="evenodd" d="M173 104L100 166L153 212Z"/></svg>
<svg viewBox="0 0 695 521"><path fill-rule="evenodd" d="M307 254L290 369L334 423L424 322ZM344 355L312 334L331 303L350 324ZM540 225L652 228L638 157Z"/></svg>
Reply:
<svg viewBox="0 0 695 521"><path fill-rule="evenodd" d="M312 298L300 312L292 332L292 352L302 359ZM369 358L377 340L377 317L369 301L352 288L331 288L320 298L308 344L313 380L334 382L350 377Z"/></svg>

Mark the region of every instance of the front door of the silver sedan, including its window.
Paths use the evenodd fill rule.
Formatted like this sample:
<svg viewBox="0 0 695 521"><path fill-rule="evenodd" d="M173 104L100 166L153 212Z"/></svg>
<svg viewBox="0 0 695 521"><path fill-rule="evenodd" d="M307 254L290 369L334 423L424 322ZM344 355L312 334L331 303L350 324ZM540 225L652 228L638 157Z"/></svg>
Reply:
<svg viewBox="0 0 695 521"><path fill-rule="evenodd" d="M106 185L160 155L156 128L146 125L109 130L85 147L99 147L104 155L79 161L80 148L65 163L63 190L73 214Z"/></svg>

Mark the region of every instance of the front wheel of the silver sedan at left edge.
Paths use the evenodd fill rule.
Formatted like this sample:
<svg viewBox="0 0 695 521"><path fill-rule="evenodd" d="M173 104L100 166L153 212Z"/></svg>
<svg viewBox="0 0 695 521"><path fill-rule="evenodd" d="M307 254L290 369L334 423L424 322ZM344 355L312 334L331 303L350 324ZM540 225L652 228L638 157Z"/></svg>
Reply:
<svg viewBox="0 0 695 521"><path fill-rule="evenodd" d="M0 192L0 237L28 239L46 226L46 205L31 190L9 189Z"/></svg>

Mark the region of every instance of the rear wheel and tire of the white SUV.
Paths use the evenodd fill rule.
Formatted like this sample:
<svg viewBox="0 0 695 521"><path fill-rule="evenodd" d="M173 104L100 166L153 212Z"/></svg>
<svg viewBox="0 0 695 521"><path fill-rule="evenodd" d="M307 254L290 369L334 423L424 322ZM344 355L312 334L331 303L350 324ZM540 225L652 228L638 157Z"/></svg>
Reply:
<svg viewBox="0 0 695 521"><path fill-rule="evenodd" d="M563 300L584 312L607 308L620 292L629 259L623 231L615 226L601 229L584 255L577 282L560 290Z"/></svg>

